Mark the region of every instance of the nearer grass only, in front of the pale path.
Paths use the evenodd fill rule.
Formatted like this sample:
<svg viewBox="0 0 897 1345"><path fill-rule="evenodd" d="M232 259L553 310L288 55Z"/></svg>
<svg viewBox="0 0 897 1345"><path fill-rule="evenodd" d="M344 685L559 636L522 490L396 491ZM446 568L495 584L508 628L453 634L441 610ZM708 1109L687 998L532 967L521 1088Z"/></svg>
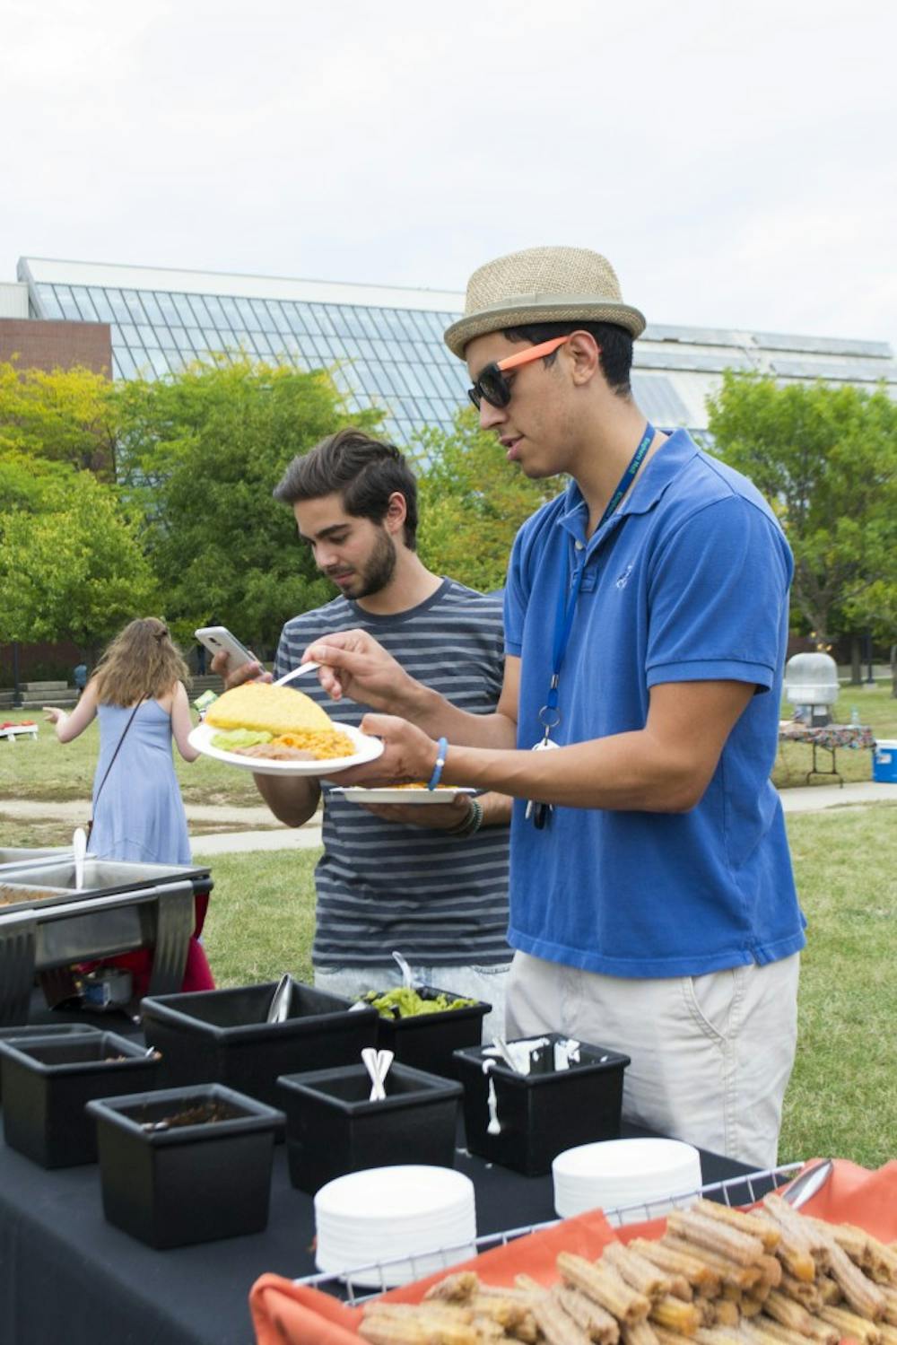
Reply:
<svg viewBox="0 0 897 1345"><path fill-rule="evenodd" d="M897 806L792 815L788 834L810 929L780 1158L877 1167L897 1137ZM316 857L212 857L206 946L222 983L308 975Z"/></svg>

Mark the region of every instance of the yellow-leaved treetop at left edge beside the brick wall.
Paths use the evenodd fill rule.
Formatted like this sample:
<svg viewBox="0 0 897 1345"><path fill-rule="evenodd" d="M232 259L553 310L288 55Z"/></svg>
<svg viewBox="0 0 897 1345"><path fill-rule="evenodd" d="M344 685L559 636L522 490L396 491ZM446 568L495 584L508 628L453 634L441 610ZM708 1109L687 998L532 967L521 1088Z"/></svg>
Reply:
<svg viewBox="0 0 897 1345"><path fill-rule="evenodd" d="M0 363L0 453L12 449L114 480L113 385L83 366Z"/></svg>

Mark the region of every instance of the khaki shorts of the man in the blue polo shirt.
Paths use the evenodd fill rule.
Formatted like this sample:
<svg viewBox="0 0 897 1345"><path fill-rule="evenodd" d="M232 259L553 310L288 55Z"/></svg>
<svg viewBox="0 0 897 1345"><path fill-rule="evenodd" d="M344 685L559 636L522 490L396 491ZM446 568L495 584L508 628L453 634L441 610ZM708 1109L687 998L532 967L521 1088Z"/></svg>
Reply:
<svg viewBox="0 0 897 1345"><path fill-rule="evenodd" d="M799 966L793 954L705 976L624 981L516 952L507 1037L559 1032L625 1052L625 1120L775 1167Z"/></svg>

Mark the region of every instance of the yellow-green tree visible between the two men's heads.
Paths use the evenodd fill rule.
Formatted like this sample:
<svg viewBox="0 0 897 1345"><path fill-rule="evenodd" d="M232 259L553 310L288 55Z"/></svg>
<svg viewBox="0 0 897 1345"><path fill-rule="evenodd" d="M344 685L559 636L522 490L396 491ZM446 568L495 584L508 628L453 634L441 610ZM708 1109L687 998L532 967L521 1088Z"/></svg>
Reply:
<svg viewBox="0 0 897 1345"><path fill-rule="evenodd" d="M457 413L451 433L418 433L410 456L420 480L424 564L484 593L500 588L516 530L562 483L523 476L495 434L480 429L473 409Z"/></svg>

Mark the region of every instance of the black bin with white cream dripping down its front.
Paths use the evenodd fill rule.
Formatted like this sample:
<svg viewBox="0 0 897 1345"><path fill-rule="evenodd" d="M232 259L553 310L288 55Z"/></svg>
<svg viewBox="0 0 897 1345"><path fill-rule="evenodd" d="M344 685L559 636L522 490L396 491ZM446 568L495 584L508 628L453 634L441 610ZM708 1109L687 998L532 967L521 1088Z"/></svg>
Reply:
<svg viewBox="0 0 897 1345"><path fill-rule="evenodd" d="M464 1084L464 1130L469 1151L487 1162L538 1177L551 1170L551 1159L565 1149L617 1139L623 1072L629 1056L581 1041L580 1059L557 1069L555 1044L569 1038L545 1033L520 1040L546 1042L533 1050L527 1075L487 1054L487 1046L455 1052ZM488 1073L483 1069L485 1061L490 1061ZM490 1080L495 1084L498 1134L488 1131Z"/></svg>

